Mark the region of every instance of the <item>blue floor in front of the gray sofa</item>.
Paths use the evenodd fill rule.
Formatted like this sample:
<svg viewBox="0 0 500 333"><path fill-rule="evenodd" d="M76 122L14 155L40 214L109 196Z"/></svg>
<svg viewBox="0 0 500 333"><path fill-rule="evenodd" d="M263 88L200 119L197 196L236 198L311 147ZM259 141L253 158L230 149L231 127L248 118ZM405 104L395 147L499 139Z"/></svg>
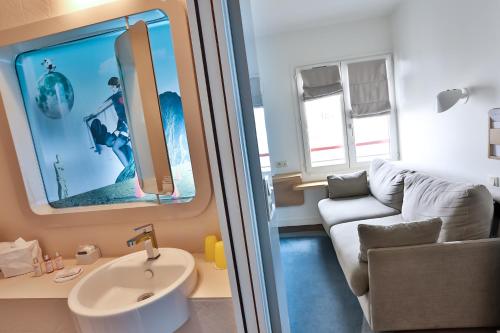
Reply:
<svg viewBox="0 0 500 333"><path fill-rule="evenodd" d="M282 236L292 333L360 333L363 313L326 235Z"/></svg>

